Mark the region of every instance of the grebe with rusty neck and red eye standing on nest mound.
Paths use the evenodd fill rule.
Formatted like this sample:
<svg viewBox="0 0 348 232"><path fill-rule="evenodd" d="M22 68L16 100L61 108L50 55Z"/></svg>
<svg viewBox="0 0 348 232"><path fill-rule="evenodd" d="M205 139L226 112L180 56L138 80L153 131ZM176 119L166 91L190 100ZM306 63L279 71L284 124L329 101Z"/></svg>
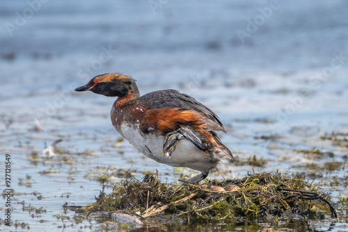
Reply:
<svg viewBox="0 0 348 232"><path fill-rule="evenodd" d="M125 139L145 156L175 167L189 167L202 174L232 157L215 131L223 128L219 117L202 103L177 90L159 90L140 97L135 80L122 74L102 74L76 91L90 90L118 97L111 108L111 122Z"/></svg>

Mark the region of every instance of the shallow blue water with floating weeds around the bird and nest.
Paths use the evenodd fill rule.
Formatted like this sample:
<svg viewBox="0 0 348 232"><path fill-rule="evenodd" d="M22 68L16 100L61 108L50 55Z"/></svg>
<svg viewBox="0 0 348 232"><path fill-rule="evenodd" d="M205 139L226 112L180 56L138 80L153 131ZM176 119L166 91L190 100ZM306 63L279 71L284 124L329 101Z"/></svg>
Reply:
<svg viewBox="0 0 348 232"><path fill-rule="evenodd" d="M252 168L322 172L315 182L332 192L335 201L347 197L346 185L330 184L347 181L345 164L333 171L310 170L305 164L324 166L347 158L347 147L320 137L348 133L348 3L279 1L241 40L237 31L248 32L247 19L261 19L260 9L270 7L269 1L161 1L155 11L149 2L42 1L32 7L24 1L1 1L0 163L4 167L5 154L10 154L17 231L102 229L105 219L79 219L62 206L93 203L103 176L119 173L105 183L106 192L111 183L129 178L120 169L137 179L158 169L159 178L168 183L177 182L180 174L196 174L144 158L126 141L115 144L120 135L109 119L115 99L72 92L105 72L133 76L143 94L166 88L190 94L221 117L228 131L221 139L235 156L268 161L264 167L236 167L226 160L223 174L214 172L209 179L243 177ZM17 26L14 31L8 30L10 24ZM63 140L57 144L63 154L45 157L42 151L58 139ZM314 147L334 156L296 152ZM26 175L32 181L19 181ZM5 189L5 179L0 185ZM0 208L5 210L5 204ZM282 225L299 231L304 223L298 219ZM1 224L0 230L15 230L14 224ZM193 231L201 225L155 227ZM345 230L342 220L306 226L313 231ZM255 220L209 222L202 229L266 227Z"/></svg>

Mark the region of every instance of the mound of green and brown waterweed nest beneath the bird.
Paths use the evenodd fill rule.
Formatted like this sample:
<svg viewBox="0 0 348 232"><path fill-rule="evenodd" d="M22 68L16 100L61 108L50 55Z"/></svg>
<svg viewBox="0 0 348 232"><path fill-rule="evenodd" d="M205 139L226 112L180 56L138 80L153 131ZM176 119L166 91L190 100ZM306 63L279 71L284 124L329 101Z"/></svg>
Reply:
<svg viewBox="0 0 348 232"><path fill-rule="evenodd" d="M232 190L224 186L236 186ZM217 188L213 188L217 187ZM337 217L330 196L305 180L303 174L283 176L262 172L244 179L209 181L205 185L169 186L156 175L142 181L117 183L111 194L101 192L96 202L82 208L86 214L121 213L145 219L234 219L237 217L281 216L294 213L305 217Z"/></svg>

